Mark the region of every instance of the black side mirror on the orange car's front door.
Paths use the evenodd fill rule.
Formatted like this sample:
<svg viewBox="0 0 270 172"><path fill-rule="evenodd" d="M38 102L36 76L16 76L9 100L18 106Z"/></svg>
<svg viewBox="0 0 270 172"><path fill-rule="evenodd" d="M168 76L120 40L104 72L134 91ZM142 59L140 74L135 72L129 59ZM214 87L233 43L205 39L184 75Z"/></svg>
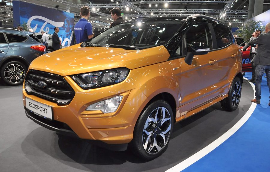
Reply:
<svg viewBox="0 0 270 172"><path fill-rule="evenodd" d="M185 63L191 65L194 55L204 55L207 54L209 50L210 50L209 45L204 44L202 42L194 42L188 44L187 46L188 53L185 57Z"/></svg>

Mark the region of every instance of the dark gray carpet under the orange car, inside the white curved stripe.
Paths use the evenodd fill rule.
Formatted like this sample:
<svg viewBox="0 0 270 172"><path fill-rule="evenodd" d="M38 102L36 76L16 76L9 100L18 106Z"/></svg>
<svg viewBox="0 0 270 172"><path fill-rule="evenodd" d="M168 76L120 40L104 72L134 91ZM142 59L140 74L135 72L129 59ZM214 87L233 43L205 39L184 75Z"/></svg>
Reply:
<svg viewBox="0 0 270 172"><path fill-rule="evenodd" d="M244 82L239 108L224 112L220 103L174 125L162 156L144 162L129 150L115 152L70 137L58 137L26 117L22 86L0 81L0 172L166 171L225 133L245 114L254 92Z"/></svg>

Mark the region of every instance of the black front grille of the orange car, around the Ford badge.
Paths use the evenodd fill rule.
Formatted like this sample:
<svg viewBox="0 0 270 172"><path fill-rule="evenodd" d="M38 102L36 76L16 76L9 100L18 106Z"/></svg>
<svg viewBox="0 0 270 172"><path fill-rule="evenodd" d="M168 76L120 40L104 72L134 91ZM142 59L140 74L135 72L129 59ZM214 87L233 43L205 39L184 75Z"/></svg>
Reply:
<svg viewBox="0 0 270 172"><path fill-rule="evenodd" d="M45 84L40 86L40 81ZM69 104L75 95L64 77L37 70L28 71L25 77L25 91L28 95L35 95L58 105Z"/></svg>

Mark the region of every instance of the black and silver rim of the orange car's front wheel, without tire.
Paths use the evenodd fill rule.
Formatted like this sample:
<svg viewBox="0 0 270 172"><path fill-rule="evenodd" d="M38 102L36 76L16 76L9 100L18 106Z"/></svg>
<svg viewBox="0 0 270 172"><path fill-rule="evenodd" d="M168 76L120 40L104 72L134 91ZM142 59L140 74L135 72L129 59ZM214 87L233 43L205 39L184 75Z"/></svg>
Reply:
<svg viewBox="0 0 270 172"><path fill-rule="evenodd" d="M171 132L171 114L165 107L158 107L148 116L142 134L144 150L156 154L168 143Z"/></svg>

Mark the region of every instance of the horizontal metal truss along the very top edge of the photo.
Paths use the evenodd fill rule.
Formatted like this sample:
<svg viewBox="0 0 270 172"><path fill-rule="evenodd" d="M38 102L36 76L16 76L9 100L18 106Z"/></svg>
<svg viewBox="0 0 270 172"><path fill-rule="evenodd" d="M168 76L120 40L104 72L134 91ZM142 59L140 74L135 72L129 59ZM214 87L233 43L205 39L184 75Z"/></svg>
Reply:
<svg viewBox="0 0 270 172"><path fill-rule="evenodd" d="M150 4L150 3L227 3L227 0L208 0L208 1L196 1L196 0L126 0L133 4Z"/></svg>

